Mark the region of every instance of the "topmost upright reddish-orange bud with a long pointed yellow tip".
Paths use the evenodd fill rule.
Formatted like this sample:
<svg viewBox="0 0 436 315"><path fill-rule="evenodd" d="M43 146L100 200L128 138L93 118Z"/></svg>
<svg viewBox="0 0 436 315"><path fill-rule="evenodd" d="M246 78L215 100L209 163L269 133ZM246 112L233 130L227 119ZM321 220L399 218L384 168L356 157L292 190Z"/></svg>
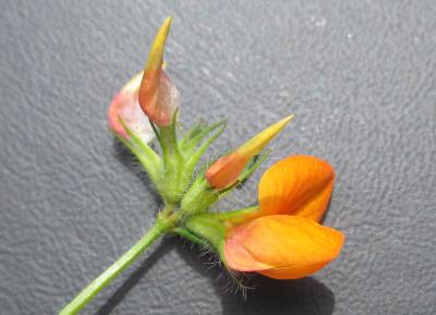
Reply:
<svg viewBox="0 0 436 315"><path fill-rule="evenodd" d="M171 124L180 106L180 94L162 69L164 48L171 26L167 17L156 34L140 88L140 105L149 120L160 126Z"/></svg>

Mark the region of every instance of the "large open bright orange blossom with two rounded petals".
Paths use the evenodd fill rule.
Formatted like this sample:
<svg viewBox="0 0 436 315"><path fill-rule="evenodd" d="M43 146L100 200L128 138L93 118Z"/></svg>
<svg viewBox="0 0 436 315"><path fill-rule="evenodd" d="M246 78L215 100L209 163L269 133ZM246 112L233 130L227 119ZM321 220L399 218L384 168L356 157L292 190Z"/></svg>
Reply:
<svg viewBox="0 0 436 315"><path fill-rule="evenodd" d="M228 268L277 279L312 275L340 253L344 235L318 221L335 173L315 157L286 158L263 175L259 210L228 222L222 247Z"/></svg>

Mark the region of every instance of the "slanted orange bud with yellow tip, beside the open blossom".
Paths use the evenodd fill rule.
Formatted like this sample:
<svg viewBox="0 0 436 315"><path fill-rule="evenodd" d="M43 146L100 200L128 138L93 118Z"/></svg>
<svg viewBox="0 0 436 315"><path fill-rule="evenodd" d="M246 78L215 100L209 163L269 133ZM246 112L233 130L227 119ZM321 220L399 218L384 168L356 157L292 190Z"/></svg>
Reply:
<svg viewBox="0 0 436 315"><path fill-rule="evenodd" d="M233 153L219 158L206 171L206 180L216 190L226 189L238 181L246 163L258 154L292 119L288 116L271 124Z"/></svg>

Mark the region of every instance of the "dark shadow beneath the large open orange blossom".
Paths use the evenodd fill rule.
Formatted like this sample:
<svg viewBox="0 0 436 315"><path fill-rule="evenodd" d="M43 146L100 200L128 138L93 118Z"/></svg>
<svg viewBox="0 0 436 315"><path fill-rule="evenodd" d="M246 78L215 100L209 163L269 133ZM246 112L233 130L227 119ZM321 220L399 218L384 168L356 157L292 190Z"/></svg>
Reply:
<svg viewBox="0 0 436 315"><path fill-rule="evenodd" d="M209 268L210 254L204 255L197 247L178 246L180 256L203 277L210 279L218 296L221 298L222 314L268 314L268 315L330 315L335 308L334 293L313 278L299 280L275 280L253 275L242 279L252 289L246 296L238 290L235 281L228 277L218 264Z"/></svg>

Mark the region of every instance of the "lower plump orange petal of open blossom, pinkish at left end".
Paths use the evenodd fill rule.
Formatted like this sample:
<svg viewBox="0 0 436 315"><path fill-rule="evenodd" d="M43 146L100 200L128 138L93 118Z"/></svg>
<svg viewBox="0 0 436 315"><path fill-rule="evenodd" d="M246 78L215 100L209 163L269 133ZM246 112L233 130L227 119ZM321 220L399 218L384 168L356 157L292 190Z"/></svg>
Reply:
<svg viewBox="0 0 436 315"><path fill-rule="evenodd" d="M315 274L340 253L340 231L298 216L267 216L229 231L226 266L256 271L275 279L298 279Z"/></svg>

